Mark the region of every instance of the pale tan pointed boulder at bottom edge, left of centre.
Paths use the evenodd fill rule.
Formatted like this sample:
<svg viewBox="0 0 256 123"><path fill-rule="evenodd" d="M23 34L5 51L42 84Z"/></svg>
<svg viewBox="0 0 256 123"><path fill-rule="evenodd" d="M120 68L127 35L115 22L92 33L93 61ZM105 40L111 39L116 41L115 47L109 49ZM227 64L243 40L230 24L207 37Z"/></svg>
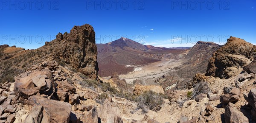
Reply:
<svg viewBox="0 0 256 123"><path fill-rule="evenodd" d="M123 123L121 110L106 99L99 114L102 123Z"/></svg>

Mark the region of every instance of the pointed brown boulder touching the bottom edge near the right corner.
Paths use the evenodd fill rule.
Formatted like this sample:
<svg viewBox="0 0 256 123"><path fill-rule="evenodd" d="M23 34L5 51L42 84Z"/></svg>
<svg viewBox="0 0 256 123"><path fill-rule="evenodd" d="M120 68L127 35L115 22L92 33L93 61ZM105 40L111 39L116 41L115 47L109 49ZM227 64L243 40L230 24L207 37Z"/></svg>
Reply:
<svg viewBox="0 0 256 123"><path fill-rule="evenodd" d="M233 103L228 103L225 107L225 123L249 123L247 117L240 112Z"/></svg>

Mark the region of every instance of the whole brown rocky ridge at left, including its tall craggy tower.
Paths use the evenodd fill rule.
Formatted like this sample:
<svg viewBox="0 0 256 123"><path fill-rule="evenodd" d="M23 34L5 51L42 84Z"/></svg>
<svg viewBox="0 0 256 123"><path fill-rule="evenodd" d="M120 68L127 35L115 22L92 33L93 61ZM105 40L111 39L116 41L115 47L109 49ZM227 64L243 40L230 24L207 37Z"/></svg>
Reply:
<svg viewBox="0 0 256 123"><path fill-rule="evenodd" d="M52 59L59 64L68 64L90 78L98 72L97 47L93 27L86 24L74 26L70 33L59 33L56 39L45 42L35 50L23 48L0 48L3 50L0 62L0 81L14 81L13 76L26 71L33 64Z"/></svg>

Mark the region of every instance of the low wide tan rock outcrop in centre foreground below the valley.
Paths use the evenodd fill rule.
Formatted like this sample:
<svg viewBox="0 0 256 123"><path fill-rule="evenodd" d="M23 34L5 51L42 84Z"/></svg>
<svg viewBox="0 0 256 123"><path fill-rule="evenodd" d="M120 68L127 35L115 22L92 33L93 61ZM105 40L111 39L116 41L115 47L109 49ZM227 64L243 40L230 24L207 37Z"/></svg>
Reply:
<svg viewBox="0 0 256 123"><path fill-rule="evenodd" d="M155 85L143 86L143 85L136 84L134 87L134 95L140 95L143 92L149 91L149 90L164 94L163 88L161 86L155 86Z"/></svg>

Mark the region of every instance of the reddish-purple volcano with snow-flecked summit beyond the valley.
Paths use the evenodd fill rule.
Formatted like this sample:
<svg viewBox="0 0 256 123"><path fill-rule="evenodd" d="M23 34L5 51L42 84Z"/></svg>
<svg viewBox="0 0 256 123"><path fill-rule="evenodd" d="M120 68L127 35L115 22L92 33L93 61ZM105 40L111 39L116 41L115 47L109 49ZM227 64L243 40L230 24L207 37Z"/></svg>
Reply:
<svg viewBox="0 0 256 123"><path fill-rule="evenodd" d="M145 65L166 57L173 57L183 51L180 48L142 45L124 37L113 42L96 45L98 48L99 75L101 76L109 76L114 71L118 74L126 74L134 70L134 67L127 67L127 65Z"/></svg>

